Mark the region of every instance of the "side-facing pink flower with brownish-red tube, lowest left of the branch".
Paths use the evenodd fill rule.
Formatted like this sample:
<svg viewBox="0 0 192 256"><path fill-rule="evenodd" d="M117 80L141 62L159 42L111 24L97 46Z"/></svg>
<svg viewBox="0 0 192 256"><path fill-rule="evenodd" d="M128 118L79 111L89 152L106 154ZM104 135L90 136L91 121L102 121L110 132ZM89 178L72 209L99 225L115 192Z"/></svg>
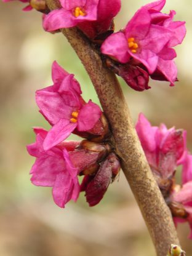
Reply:
<svg viewBox="0 0 192 256"><path fill-rule="evenodd" d="M79 196L78 174L97 172L99 162L107 156L107 144L82 142L62 142L50 150L43 148L47 131L34 128L36 142L28 145L27 150L36 161L31 168L31 182L36 186L51 186L55 201L60 207Z"/></svg>

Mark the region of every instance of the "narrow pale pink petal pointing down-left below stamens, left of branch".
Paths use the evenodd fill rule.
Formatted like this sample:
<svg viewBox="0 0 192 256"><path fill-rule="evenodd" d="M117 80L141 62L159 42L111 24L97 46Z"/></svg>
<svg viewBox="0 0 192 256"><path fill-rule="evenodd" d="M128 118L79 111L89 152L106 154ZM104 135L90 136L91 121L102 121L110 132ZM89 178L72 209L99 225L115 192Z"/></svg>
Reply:
<svg viewBox="0 0 192 256"><path fill-rule="evenodd" d="M60 121L49 130L47 137L44 140L44 150L49 150L53 146L62 142L76 128L77 124L70 122L68 119L60 119Z"/></svg>

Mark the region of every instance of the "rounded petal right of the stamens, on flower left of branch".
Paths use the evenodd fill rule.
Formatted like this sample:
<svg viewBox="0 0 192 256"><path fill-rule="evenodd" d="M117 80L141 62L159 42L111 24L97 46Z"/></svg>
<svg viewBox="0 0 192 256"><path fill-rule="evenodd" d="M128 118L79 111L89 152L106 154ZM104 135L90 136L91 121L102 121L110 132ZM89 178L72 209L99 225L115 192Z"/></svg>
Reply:
<svg viewBox="0 0 192 256"><path fill-rule="evenodd" d="M79 111L78 115L78 130L79 132L92 129L98 119L100 118L102 111L100 107L93 103L91 100L84 105Z"/></svg>

